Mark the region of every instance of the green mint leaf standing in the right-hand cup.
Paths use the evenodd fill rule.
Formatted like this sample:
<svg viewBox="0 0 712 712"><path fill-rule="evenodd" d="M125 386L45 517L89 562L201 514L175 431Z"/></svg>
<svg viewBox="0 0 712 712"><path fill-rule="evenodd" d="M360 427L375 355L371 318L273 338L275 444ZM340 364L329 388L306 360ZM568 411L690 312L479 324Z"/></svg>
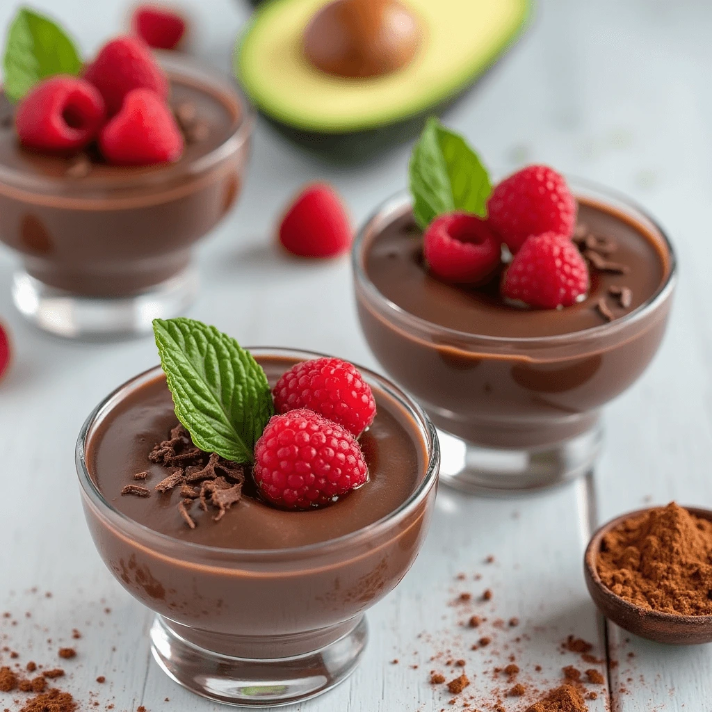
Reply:
<svg viewBox="0 0 712 712"><path fill-rule="evenodd" d="M492 192L487 169L464 138L435 117L413 149L409 172L413 213L422 229L454 210L486 217Z"/></svg>

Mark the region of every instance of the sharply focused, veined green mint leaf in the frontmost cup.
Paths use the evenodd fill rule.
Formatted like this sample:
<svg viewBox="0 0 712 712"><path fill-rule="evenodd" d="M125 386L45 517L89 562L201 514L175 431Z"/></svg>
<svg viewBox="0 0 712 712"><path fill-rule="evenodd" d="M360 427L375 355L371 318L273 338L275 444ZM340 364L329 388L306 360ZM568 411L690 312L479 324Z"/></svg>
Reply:
<svg viewBox="0 0 712 712"><path fill-rule="evenodd" d="M272 394L262 367L234 338L192 319L153 321L176 415L206 452L248 463L268 420Z"/></svg>

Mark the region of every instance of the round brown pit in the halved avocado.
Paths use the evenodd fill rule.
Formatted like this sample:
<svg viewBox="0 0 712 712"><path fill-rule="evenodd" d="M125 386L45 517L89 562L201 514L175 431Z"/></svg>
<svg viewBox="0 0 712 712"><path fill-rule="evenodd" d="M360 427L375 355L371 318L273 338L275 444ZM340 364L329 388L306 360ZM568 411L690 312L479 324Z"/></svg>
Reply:
<svg viewBox="0 0 712 712"><path fill-rule="evenodd" d="M417 18L398 0L335 0L310 21L303 46L325 73L368 78L407 66L421 40Z"/></svg>

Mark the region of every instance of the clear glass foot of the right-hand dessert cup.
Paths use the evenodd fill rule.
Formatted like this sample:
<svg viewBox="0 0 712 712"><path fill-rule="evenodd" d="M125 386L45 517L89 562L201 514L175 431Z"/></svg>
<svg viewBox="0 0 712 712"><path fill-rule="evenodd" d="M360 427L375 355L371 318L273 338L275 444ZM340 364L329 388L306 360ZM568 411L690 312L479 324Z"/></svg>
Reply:
<svg viewBox="0 0 712 712"><path fill-rule="evenodd" d="M439 481L468 494L506 495L562 485L592 471L601 451L600 423L560 442L522 449L488 448L437 429Z"/></svg>

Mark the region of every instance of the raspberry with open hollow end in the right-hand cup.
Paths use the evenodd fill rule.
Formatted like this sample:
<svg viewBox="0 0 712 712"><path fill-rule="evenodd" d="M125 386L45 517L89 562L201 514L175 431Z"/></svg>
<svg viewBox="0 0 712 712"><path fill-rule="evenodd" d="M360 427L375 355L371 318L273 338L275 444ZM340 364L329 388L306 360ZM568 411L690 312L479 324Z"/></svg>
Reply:
<svg viewBox="0 0 712 712"><path fill-rule="evenodd" d="M501 240L476 215L455 212L434 219L423 251L431 271L447 282L477 283L499 266Z"/></svg>

